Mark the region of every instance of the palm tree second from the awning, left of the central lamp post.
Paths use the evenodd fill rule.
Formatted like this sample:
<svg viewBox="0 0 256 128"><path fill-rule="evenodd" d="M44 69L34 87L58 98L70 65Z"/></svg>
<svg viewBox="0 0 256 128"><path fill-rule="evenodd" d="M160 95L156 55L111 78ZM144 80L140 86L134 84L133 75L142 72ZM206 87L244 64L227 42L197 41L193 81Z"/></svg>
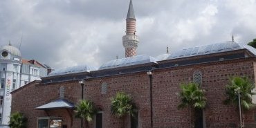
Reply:
<svg viewBox="0 0 256 128"><path fill-rule="evenodd" d="M111 113L117 118L122 118L122 125L125 128L125 116L134 116L136 106L131 97L123 92L116 93L111 98Z"/></svg>

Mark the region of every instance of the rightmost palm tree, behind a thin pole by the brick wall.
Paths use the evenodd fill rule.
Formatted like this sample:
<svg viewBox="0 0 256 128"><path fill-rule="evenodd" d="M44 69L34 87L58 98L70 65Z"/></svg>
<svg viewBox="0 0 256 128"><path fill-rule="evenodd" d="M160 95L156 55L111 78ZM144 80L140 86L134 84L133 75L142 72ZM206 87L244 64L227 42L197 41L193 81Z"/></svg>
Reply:
<svg viewBox="0 0 256 128"><path fill-rule="evenodd" d="M228 98L224 100L224 104L235 104L239 107L238 94L235 89L240 88L240 99L241 108L245 110L252 109L254 107L252 102L252 95L256 93L253 92L255 85L250 82L248 77L231 77L229 83L226 85L226 94Z"/></svg>

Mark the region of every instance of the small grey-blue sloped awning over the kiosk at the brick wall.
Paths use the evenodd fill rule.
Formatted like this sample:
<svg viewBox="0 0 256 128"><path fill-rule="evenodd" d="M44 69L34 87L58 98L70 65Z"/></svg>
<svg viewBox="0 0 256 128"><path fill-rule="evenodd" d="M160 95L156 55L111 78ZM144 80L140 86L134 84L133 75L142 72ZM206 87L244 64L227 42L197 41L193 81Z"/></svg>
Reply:
<svg viewBox="0 0 256 128"><path fill-rule="evenodd" d="M49 102L42 106L39 106L35 109L39 110L48 110L48 109L74 109L75 105L72 102L68 102L68 100L59 99L53 102Z"/></svg>

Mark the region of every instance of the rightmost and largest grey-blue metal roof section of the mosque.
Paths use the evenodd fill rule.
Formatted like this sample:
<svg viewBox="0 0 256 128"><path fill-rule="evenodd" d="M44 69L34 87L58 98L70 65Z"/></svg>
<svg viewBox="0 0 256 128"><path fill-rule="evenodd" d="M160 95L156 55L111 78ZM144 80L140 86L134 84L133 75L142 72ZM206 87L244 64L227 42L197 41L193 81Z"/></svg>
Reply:
<svg viewBox="0 0 256 128"><path fill-rule="evenodd" d="M192 57L197 55L208 55L212 53L223 53L227 51L235 51L239 49L247 49L254 55L256 55L256 50L252 46L247 44L239 44L237 42L222 42L218 44L209 44L205 46L196 46L193 48L183 48L181 50L174 51L170 54L163 54L156 57L158 60L172 60L183 57Z"/></svg>

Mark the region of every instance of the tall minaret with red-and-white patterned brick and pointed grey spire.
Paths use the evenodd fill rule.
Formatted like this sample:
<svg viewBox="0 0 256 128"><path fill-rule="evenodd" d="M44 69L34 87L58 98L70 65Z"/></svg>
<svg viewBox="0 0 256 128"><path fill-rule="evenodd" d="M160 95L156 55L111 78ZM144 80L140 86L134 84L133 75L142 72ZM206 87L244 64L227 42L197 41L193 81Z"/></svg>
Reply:
<svg viewBox="0 0 256 128"><path fill-rule="evenodd" d="M122 45L125 47L125 57L136 56L138 36L136 35L136 19L132 0L130 0L129 10L127 13L126 35L122 37Z"/></svg>

